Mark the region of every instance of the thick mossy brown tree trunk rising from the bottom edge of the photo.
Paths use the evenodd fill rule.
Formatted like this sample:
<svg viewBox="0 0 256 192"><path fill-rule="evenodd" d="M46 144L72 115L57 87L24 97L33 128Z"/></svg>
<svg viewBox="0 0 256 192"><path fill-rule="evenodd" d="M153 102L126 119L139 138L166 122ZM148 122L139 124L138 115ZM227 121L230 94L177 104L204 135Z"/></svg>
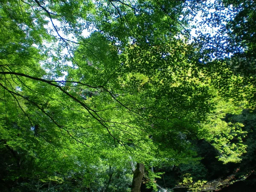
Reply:
<svg viewBox="0 0 256 192"><path fill-rule="evenodd" d="M140 192L140 185L144 174L144 165L137 163L131 184L131 192Z"/></svg>

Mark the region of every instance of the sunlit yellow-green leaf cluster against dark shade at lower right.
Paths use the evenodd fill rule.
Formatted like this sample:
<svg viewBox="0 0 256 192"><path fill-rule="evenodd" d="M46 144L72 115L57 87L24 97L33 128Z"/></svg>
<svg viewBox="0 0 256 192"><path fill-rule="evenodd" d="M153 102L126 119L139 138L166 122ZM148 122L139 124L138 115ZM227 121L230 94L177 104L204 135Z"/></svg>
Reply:
<svg viewBox="0 0 256 192"><path fill-rule="evenodd" d="M241 154L245 153L246 145L242 143L246 131L242 131L244 126L241 123L225 122L225 116L229 114L241 113L241 108L235 107L229 101L216 99L215 114L209 114L209 117L201 134L218 151L219 160L224 163L241 161ZM207 135L207 136L206 136Z"/></svg>

